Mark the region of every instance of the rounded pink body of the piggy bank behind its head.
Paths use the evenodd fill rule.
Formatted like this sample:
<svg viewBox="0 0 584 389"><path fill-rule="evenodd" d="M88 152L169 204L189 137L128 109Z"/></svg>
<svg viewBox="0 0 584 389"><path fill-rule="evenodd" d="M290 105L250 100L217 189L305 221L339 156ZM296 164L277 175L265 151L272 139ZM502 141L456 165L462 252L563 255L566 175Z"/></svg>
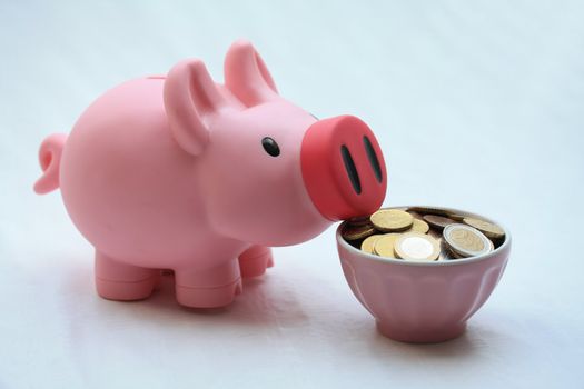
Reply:
<svg viewBox="0 0 584 389"><path fill-rule="evenodd" d="M188 257L206 235L197 160L170 134L162 87L138 79L106 92L79 118L61 160L63 201L81 233L139 263Z"/></svg>

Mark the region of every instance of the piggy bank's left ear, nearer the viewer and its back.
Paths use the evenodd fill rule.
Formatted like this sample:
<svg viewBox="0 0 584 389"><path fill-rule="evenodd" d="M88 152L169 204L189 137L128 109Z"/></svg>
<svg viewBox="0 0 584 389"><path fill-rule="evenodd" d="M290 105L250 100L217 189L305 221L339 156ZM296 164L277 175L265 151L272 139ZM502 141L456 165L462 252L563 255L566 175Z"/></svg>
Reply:
<svg viewBox="0 0 584 389"><path fill-rule="evenodd" d="M227 106L202 61L185 60L170 69L164 99L177 142L194 156L201 153L209 141L210 116Z"/></svg>

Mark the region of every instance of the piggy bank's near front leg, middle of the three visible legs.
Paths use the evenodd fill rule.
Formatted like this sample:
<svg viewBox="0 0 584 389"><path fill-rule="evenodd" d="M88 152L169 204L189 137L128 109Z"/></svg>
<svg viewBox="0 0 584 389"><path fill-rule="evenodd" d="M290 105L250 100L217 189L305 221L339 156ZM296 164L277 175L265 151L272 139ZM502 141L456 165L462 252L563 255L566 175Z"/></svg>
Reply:
<svg viewBox="0 0 584 389"><path fill-rule="evenodd" d="M177 301L191 308L225 307L241 292L236 259L209 269L175 269Z"/></svg>

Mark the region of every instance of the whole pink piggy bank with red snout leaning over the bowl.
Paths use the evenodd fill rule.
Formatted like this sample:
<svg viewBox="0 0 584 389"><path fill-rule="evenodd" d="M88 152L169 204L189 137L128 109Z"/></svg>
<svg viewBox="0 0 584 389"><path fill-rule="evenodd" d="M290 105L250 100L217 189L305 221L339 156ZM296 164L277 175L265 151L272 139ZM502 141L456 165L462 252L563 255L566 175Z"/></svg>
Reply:
<svg viewBox="0 0 584 389"><path fill-rule="evenodd" d="M365 122L318 120L281 98L247 41L224 70L216 83L189 59L125 82L42 142L34 190L61 189L96 249L101 297L145 299L172 270L180 305L226 306L241 278L273 266L270 247L382 205L386 168Z"/></svg>

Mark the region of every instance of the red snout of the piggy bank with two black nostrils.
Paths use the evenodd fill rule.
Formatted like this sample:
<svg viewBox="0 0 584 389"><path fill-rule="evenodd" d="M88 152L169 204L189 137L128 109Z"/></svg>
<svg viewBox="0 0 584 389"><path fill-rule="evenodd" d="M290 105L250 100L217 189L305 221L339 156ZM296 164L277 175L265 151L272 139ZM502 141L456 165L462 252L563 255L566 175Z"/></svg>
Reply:
<svg viewBox="0 0 584 389"><path fill-rule="evenodd" d="M376 211L385 199L385 161L369 127L353 116L315 122L300 151L303 178L318 211L343 220Z"/></svg>

